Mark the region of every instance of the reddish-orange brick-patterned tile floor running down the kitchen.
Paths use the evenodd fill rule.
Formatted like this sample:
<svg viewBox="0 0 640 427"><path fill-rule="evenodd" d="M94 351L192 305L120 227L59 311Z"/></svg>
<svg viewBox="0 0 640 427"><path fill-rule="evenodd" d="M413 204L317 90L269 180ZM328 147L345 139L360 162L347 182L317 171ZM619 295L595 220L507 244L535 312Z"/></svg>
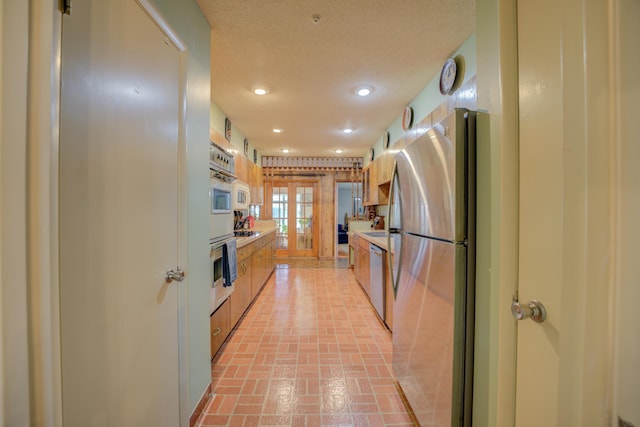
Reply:
<svg viewBox="0 0 640 427"><path fill-rule="evenodd" d="M353 272L279 267L216 355L197 426L413 426Z"/></svg>

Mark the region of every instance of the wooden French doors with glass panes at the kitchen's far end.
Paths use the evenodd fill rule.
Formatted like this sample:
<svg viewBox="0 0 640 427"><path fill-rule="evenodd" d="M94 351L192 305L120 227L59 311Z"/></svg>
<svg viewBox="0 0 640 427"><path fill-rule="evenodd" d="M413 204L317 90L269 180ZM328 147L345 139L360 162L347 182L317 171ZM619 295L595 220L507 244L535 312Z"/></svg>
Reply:
<svg viewBox="0 0 640 427"><path fill-rule="evenodd" d="M318 183L275 181L271 218L276 223L276 256L318 256Z"/></svg>

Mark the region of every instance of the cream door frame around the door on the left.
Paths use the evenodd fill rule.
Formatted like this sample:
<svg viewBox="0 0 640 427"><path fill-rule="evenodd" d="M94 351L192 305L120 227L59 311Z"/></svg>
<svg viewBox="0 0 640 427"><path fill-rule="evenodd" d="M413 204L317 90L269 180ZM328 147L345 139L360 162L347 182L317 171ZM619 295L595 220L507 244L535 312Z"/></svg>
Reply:
<svg viewBox="0 0 640 427"><path fill-rule="evenodd" d="M179 262L185 264L188 52L150 0L136 1L180 50L178 257ZM62 14L57 2L0 0L0 20L3 24L15 23L3 25L0 33L0 43L7 46L0 50L4 75L0 82L3 95L0 123L4 123L0 161L16 165L11 169L3 168L0 175L0 185L4 186L0 191L3 212L0 221L17 217L26 219L24 228L12 226L11 236L3 236L0 242L0 283L3 288L5 281L14 284L11 289L0 292L0 313L11 305L11 314L16 314L10 324L0 320L0 329L3 336L25 335L24 341L11 349L0 343L0 361L9 364L0 370L3 384L0 388L0 422L62 427L57 169ZM11 44L4 40L11 40ZM26 52L22 50L25 45L28 45ZM13 78L20 75L23 77ZM11 105L5 103L9 95ZM20 108L20 102L25 108ZM13 190L4 191L9 183ZM2 223L0 229L7 230L9 225ZM178 304L180 420L182 425L188 425L186 286L180 287ZM15 364L19 360L22 363ZM21 381L12 380L9 374L13 371L21 373Z"/></svg>

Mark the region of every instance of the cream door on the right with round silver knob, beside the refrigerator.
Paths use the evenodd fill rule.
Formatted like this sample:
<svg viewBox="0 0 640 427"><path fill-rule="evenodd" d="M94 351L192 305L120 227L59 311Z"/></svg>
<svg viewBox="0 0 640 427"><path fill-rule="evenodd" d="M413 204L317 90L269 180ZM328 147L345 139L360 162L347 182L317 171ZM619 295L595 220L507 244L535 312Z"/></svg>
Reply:
<svg viewBox="0 0 640 427"><path fill-rule="evenodd" d="M517 5L518 294L548 314L517 324L519 427L613 421L609 8L599 0Z"/></svg>

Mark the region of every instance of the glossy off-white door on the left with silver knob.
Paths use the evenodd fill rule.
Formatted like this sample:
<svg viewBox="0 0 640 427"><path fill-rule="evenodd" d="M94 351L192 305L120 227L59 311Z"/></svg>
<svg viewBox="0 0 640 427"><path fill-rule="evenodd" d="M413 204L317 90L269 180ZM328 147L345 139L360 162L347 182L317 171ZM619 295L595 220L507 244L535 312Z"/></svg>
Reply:
<svg viewBox="0 0 640 427"><path fill-rule="evenodd" d="M178 426L178 50L134 0L63 18L65 426Z"/></svg>

